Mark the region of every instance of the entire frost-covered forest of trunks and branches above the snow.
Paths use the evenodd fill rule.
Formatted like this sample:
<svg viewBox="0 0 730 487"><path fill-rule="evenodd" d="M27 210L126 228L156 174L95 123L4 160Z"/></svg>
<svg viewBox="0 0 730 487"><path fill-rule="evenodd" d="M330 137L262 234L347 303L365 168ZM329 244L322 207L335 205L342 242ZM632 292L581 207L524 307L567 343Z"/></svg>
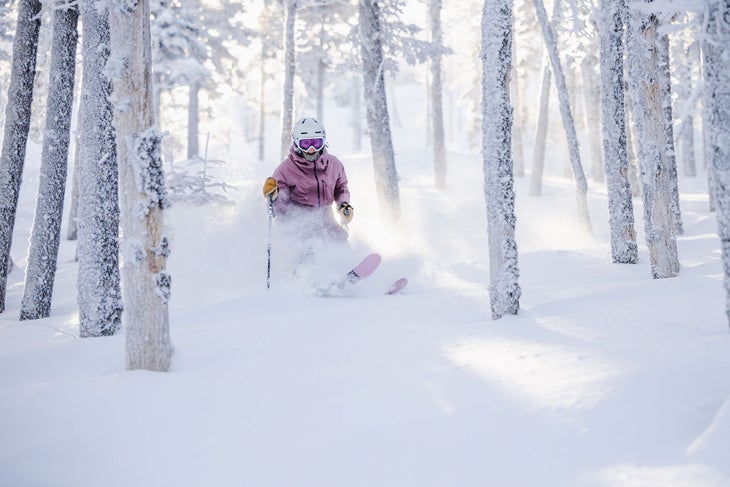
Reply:
<svg viewBox="0 0 730 487"><path fill-rule="evenodd" d="M679 272L678 177L707 168L730 317L728 49L730 0L4 2L0 311L29 139L42 144L42 176L20 319L51 312L68 198L80 335L114 334L124 323L128 367L167 370L164 210L170 191L205 193L207 176L164 168L211 162L201 127L217 100L241 101L239 122L261 160L288 148L295 113L326 120L324 100L336 101L351 113L352 146L369 137L381 214L397 221L390 87L418 76L428 81L424 172L434 187L449 183L446 132L458 126L460 143L482 150L493 318L519 310L514 179L526 173L529 144L539 195L548 130L565 141L585 232L594 225L589 178L606 185L615 263L637 262L632 198L641 198L654 278ZM552 127L551 93L560 122ZM266 138L272 119L280 140ZM215 131L212 143L230 143L226 136Z"/></svg>

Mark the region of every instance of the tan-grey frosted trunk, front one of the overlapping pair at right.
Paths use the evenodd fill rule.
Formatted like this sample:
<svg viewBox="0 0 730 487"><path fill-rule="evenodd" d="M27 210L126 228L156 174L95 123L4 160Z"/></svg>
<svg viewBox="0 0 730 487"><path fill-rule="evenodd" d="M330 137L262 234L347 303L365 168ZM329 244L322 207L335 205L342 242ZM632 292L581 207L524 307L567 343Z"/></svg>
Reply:
<svg viewBox="0 0 730 487"><path fill-rule="evenodd" d="M644 13L644 1L630 4L628 45L629 87L633 99L644 228L653 278L679 272L677 238L671 212L672 188L662 108L657 19Z"/></svg>

